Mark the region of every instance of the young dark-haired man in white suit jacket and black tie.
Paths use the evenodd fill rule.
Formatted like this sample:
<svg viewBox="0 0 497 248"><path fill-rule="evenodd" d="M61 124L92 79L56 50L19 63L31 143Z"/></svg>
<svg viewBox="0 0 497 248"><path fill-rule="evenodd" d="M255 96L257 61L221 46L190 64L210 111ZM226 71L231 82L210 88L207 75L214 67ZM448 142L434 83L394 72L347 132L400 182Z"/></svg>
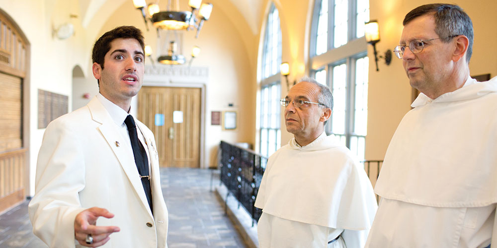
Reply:
<svg viewBox="0 0 497 248"><path fill-rule="evenodd" d="M142 86L144 59L139 29L121 26L102 35L92 54L99 94L48 125L29 203L33 232L48 246L167 247L167 208L154 135L131 118L136 129L129 129L137 130L140 158L148 167L148 175L141 175L132 132L124 124L130 119L131 98ZM149 191L144 182L150 183Z"/></svg>

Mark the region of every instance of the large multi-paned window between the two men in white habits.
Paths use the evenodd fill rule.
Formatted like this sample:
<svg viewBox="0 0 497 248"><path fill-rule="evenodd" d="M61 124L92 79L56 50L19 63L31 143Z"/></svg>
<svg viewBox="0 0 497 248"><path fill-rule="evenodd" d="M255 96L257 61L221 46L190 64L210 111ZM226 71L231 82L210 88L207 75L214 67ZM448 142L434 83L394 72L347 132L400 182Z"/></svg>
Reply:
<svg viewBox="0 0 497 248"><path fill-rule="evenodd" d="M364 22L369 0L316 0L311 33L311 75L330 86L334 107L326 132L364 159L368 68Z"/></svg>

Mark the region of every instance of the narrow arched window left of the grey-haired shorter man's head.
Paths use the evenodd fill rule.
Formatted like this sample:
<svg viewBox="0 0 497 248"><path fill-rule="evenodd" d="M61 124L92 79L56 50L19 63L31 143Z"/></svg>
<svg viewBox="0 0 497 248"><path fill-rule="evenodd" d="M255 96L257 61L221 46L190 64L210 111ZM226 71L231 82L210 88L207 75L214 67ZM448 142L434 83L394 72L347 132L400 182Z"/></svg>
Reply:
<svg viewBox="0 0 497 248"><path fill-rule="evenodd" d="M267 14L261 62L259 152L270 156L281 146L281 28L278 9L271 4Z"/></svg>

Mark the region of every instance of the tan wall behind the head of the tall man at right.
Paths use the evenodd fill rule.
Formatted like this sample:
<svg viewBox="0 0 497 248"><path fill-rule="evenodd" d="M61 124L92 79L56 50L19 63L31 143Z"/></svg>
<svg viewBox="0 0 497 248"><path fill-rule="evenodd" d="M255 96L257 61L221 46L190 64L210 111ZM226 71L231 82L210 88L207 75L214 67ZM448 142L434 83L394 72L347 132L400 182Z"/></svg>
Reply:
<svg viewBox="0 0 497 248"><path fill-rule="evenodd" d="M404 16L418 5L433 1L381 0L371 1L370 18L380 23L381 41L379 52L393 50L399 44ZM375 4L373 4L375 3ZM497 75L497 23L495 0L453 0L473 20L475 42L470 62L471 75L490 73ZM366 159L382 160L390 139L402 117L411 109L411 86L402 67L402 61L393 58L387 66L379 62L380 71L375 70L371 47L369 55L368 135L366 137Z"/></svg>

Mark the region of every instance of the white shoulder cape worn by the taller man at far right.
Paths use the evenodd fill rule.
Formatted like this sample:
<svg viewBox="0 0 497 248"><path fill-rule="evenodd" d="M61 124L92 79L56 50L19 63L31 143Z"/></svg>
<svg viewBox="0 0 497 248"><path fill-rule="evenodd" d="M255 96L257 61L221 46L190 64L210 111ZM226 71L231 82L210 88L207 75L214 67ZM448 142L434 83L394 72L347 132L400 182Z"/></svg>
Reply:
<svg viewBox="0 0 497 248"><path fill-rule="evenodd" d="M497 77L420 93L395 131L375 191L432 207L497 202Z"/></svg>

